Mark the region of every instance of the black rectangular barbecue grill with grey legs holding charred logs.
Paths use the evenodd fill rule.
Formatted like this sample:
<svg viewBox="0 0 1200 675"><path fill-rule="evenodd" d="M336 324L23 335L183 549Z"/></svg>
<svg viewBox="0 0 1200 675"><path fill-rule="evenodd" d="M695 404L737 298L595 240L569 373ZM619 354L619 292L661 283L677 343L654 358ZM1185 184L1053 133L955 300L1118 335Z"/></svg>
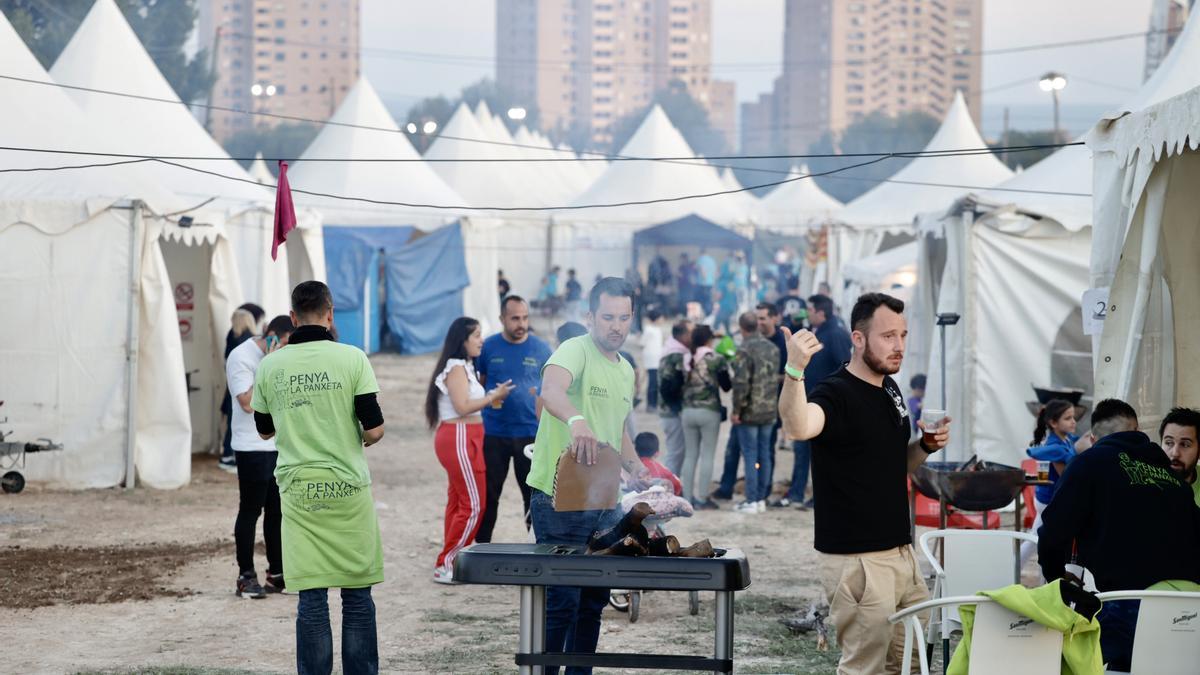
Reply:
<svg viewBox="0 0 1200 675"><path fill-rule="evenodd" d="M516 663L522 674L540 674L546 665L733 671L733 593L750 585L750 563L742 551L716 549L716 557L694 558L598 556L586 555L584 550L586 546L557 544L475 544L455 557L455 581L521 587L521 651ZM547 653L547 586L713 591L716 593L713 657Z"/></svg>

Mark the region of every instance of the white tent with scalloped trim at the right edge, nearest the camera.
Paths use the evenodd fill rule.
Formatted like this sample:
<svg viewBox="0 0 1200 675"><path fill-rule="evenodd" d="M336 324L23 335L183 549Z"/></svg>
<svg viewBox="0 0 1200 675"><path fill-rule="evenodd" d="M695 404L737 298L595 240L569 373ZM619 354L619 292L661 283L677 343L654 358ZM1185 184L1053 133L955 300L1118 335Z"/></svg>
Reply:
<svg viewBox="0 0 1200 675"><path fill-rule="evenodd" d="M1200 407L1200 384L1178 375L1200 359L1198 109L1200 86L1100 120L1087 136L1096 153L1092 285L1108 288L1096 395L1127 400L1144 428L1157 429L1172 406Z"/></svg>

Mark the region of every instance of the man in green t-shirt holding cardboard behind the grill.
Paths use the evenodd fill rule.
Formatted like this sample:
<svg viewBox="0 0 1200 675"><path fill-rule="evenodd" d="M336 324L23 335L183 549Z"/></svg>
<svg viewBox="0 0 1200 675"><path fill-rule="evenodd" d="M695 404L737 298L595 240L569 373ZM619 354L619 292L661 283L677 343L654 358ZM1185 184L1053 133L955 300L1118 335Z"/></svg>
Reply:
<svg viewBox="0 0 1200 675"><path fill-rule="evenodd" d="M638 483L649 478L629 436L634 369L618 353L634 319L634 287L616 276L601 279L588 310L589 333L559 345L541 371L542 412L526 479L539 544L586 544L620 516L618 509L554 510L554 470L564 452L592 465L598 453L619 448L624 472ZM594 652L607 602L606 589L546 589L546 651Z"/></svg>

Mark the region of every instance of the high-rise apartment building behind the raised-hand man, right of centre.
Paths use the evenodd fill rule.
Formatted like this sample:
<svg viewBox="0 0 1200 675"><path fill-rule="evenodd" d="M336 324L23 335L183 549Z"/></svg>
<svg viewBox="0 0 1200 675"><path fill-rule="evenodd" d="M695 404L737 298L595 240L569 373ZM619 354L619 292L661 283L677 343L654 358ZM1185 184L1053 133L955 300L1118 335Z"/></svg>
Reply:
<svg viewBox="0 0 1200 675"><path fill-rule="evenodd" d="M773 129L744 137L773 137L802 153L823 132L874 112L941 119L955 90L979 124L983 0L794 0L785 7Z"/></svg>

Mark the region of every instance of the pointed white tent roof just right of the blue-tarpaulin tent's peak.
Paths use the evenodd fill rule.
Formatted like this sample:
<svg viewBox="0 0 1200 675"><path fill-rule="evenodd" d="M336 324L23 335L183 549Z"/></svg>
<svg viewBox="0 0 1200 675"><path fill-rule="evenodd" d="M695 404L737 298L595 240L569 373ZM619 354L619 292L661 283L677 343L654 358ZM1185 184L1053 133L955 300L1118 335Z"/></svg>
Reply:
<svg viewBox="0 0 1200 675"><path fill-rule="evenodd" d="M461 141L462 138L474 141ZM442 133L425 151L426 160L458 160L503 157L491 136L480 126L467 103L460 103ZM476 207L508 207L528 204L529 185L521 185L498 162L436 162L433 171L455 192ZM520 204L517 202L521 202Z"/></svg>

